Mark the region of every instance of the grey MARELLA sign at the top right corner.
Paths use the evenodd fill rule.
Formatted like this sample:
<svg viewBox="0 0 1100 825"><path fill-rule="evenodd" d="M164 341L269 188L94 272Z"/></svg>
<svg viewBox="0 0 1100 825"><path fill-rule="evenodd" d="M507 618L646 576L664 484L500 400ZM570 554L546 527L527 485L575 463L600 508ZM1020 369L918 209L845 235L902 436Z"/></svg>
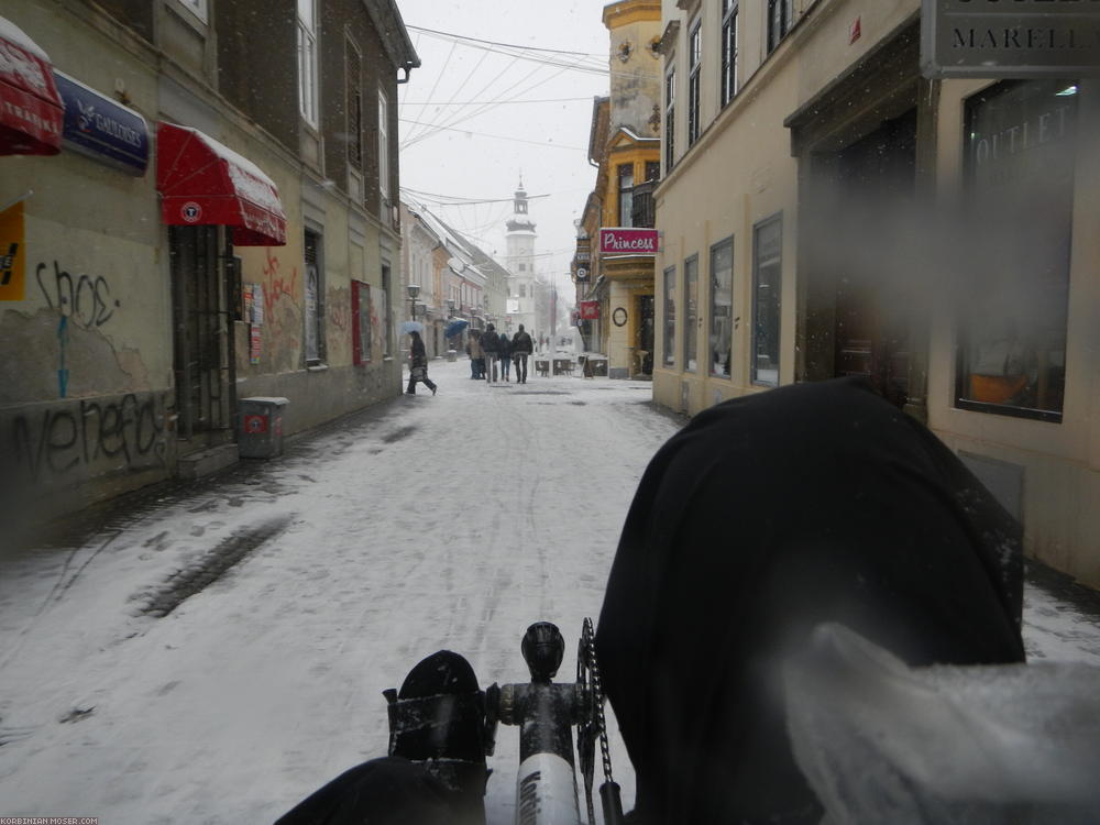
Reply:
<svg viewBox="0 0 1100 825"><path fill-rule="evenodd" d="M923 0L925 77L1100 76L1100 0Z"/></svg>

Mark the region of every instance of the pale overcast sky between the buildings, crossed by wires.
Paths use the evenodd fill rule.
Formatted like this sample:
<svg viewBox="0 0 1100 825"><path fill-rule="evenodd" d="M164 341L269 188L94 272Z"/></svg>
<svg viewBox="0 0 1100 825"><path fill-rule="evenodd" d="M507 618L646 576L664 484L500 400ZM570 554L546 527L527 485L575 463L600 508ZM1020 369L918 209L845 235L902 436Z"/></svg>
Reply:
<svg viewBox="0 0 1100 825"><path fill-rule="evenodd" d="M595 182L592 100L607 94L605 3L397 4L422 64L398 87L402 186L427 193L418 197L432 211L503 258L504 222L522 173L538 271L568 286L573 220ZM482 202L439 202L455 199Z"/></svg>

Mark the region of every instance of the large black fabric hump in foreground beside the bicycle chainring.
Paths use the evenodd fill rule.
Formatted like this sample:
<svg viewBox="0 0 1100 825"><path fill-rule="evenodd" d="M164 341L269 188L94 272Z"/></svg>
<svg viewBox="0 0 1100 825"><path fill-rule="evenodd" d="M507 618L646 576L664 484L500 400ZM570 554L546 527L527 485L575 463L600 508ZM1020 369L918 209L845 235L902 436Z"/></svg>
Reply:
<svg viewBox="0 0 1100 825"><path fill-rule="evenodd" d="M631 822L816 823L784 653L839 622L911 666L1023 661L1020 548L950 450L859 381L697 415L642 477L596 637Z"/></svg>

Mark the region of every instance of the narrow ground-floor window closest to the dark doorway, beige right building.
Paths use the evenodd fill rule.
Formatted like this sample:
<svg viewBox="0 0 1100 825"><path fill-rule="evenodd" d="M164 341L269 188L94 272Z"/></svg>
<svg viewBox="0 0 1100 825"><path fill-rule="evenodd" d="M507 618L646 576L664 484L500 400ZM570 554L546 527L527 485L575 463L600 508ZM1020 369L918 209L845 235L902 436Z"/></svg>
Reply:
<svg viewBox="0 0 1100 825"><path fill-rule="evenodd" d="M777 216L754 229L752 376L754 384L779 386L780 295L783 275L783 223Z"/></svg>

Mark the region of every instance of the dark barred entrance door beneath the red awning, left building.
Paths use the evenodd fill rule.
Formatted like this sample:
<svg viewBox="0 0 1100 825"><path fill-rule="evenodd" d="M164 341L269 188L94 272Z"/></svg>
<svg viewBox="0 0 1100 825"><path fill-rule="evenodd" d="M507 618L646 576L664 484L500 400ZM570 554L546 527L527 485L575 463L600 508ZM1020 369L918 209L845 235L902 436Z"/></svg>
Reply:
<svg viewBox="0 0 1100 825"><path fill-rule="evenodd" d="M219 227L169 227L176 435L188 455L233 440L233 363Z"/></svg>

